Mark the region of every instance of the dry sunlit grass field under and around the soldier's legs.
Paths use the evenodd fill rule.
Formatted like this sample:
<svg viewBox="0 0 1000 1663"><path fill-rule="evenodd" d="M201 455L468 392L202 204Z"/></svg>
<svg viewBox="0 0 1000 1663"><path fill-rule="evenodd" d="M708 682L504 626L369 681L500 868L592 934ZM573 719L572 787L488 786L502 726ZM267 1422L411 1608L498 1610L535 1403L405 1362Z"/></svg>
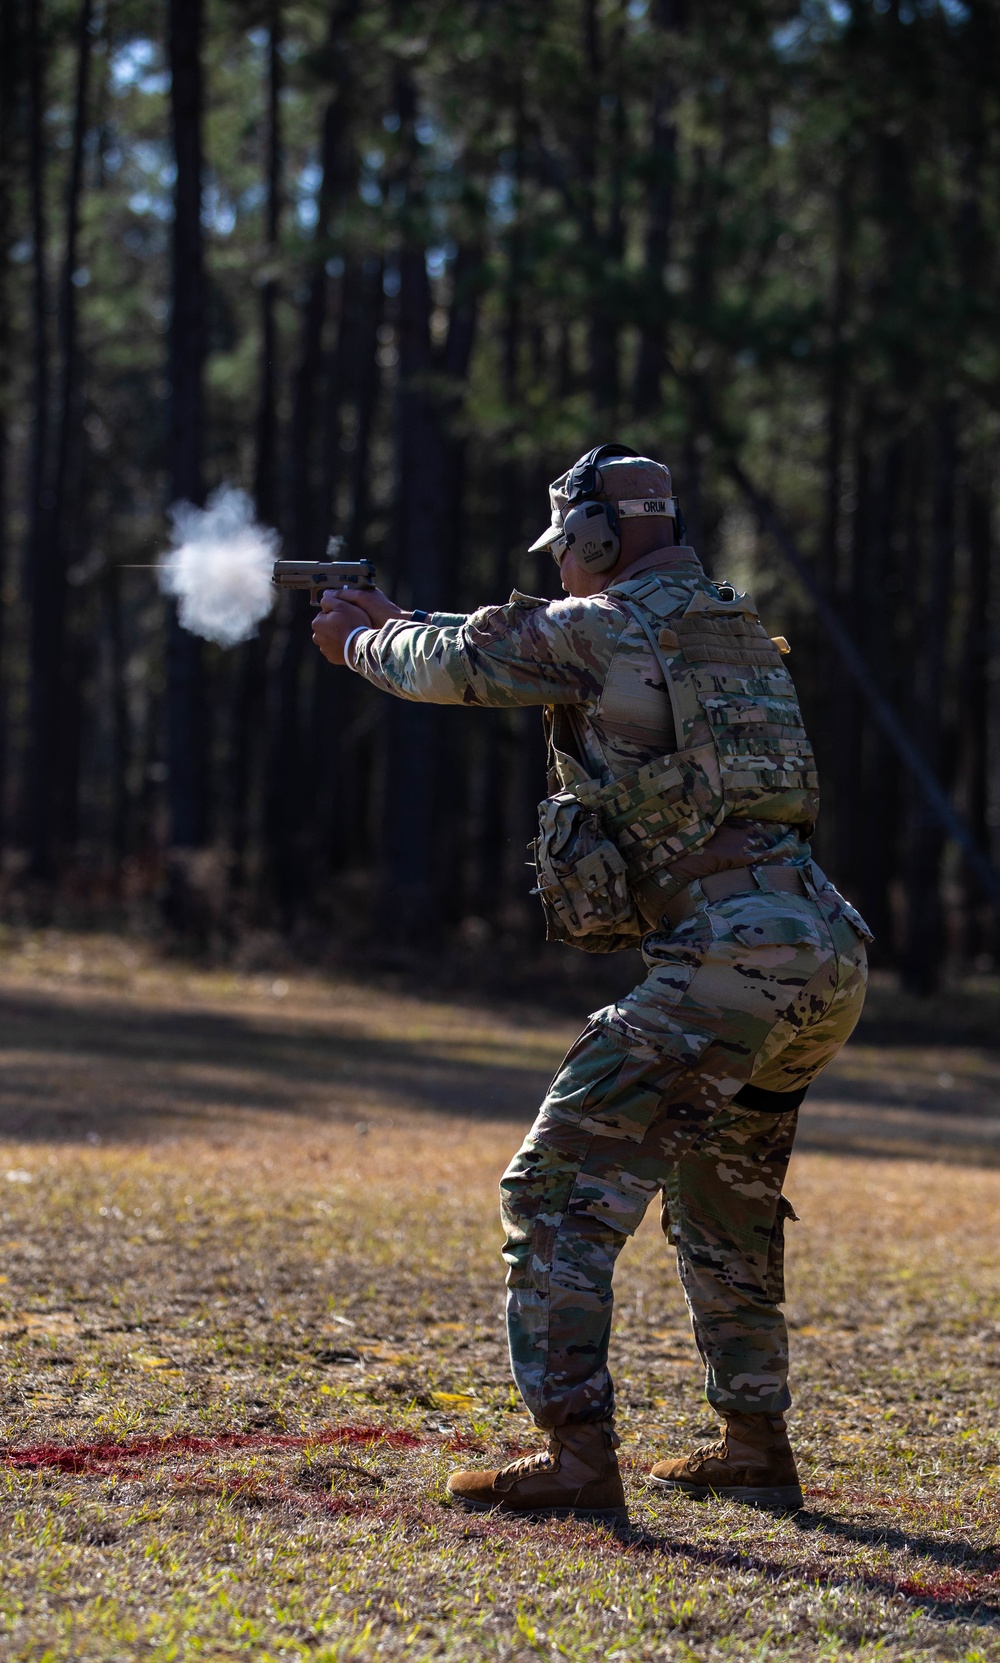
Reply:
<svg viewBox="0 0 1000 1663"><path fill-rule="evenodd" d="M0 1656L1000 1660L997 1009L877 989L809 1101L804 1513L644 1488L712 1420L629 1244L614 1533L444 1493L531 1442L496 1184L577 1024L7 931Z"/></svg>

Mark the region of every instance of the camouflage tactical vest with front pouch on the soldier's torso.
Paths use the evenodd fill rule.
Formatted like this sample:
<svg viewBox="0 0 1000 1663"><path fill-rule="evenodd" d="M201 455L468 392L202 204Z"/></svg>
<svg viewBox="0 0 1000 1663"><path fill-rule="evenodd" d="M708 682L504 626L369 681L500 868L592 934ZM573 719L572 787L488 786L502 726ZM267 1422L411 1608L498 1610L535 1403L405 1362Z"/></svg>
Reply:
<svg viewBox="0 0 1000 1663"><path fill-rule="evenodd" d="M799 698L752 600L702 577L686 602L656 572L609 594L661 665L677 748L601 785L549 742L559 790L539 808L537 893L551 940L599 953L641 938L641 915L659 918L679 886L672 865L724 820L809 836L819 810Z"/></svg>

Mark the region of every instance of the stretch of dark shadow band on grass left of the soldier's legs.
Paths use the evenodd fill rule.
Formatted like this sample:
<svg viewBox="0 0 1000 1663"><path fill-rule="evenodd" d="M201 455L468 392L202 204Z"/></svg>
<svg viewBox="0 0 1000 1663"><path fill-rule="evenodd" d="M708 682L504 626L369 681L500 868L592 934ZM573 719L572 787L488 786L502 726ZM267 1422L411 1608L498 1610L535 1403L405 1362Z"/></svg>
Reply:
<svg viewBox="0 0 1000 1663"><path fill-rule="evenodd" d="M549 1069L511 1063L499 1041L391 1039L304 1021L223 1011L176 1011L65 996L0 998L0 1136L136 1136L220 1113L278 1111L358 1119L434 1109L527 1119Z"/></svg>

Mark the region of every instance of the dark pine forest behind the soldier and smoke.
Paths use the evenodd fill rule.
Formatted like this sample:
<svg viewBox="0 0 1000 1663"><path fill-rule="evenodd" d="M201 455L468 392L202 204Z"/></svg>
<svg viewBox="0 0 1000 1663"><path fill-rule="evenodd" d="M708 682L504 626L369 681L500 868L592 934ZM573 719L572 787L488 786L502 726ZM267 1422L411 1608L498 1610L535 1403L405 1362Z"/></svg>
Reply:
<svg viewBox="0 0 1000 1663"><path fill-rule="evenodd" d="M982 858L830 610L997 866L997 0L3 0L0 30L3 916L531 951L536 712L386 700L301 595L208 647L135 567L230 482L403 604L554 594L547 481L621 439L792 640L817 858L880 963L995 968Z"/></svg>

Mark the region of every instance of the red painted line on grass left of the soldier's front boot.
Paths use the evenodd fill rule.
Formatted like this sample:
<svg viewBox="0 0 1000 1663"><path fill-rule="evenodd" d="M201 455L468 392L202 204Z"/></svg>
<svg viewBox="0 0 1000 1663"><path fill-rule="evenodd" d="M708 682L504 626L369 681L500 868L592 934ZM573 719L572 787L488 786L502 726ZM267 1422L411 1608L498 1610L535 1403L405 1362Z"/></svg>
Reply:
<svg viewBox="0 0 1000 1663"><path fill-rule="evenodd" d="M225 1455L228 1450L298 1450L311 1443L388 1443L389 1448L414 1450L428 1438L414 1432L396 1432L393 1427L348 1425L326 1427L323 1432L218 1432L203 1437L195 1432L173 1432L161 1438L131 1438L121 1443L33 1443L27 1448L5 1450L3 1467L50 1467L72 1473L106 1473L126 1462L150 1460L166 1455Z"/></svg>

